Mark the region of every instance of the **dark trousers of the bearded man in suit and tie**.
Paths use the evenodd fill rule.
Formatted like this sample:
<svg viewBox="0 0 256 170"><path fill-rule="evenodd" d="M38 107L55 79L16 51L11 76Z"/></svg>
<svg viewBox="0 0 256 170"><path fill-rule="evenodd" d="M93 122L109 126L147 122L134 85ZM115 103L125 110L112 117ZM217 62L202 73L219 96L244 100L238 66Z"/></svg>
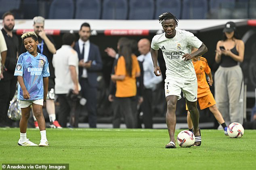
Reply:
<svg viewBox="0 0 256 170"><path fill-rule="evenodd" d="M86 98L86 108L88 110L88 123L92 128L97 127L97 87L90 86L87 78L80 79L81 94Z"/></svg>

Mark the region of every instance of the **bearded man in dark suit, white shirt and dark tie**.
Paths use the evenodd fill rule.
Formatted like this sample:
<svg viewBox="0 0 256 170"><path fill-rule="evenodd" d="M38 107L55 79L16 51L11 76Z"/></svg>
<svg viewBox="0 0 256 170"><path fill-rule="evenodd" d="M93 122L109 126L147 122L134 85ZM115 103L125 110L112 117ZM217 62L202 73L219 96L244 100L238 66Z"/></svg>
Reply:
<svg viewBox="0 0 256 170"><path fill-rule="evenodd" d="M97 124L97 72L102 69L99 47L90 43L90 25L83 23L79 31L79 40L74 49L79 57L79 82L82 96L86 98L89 126L96 128Z"/></svg>

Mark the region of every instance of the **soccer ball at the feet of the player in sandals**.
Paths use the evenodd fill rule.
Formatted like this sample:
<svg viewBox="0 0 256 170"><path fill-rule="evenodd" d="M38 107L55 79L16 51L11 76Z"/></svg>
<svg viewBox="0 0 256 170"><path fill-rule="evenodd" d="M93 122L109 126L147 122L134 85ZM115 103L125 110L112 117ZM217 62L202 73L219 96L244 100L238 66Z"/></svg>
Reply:
<svg viewBox="0 0 256 170"><path fill-rule="evenodd" d="M195 135L191 131L181 131L178 133L177 142L180 147L191 147L195 143Z"/></svg>

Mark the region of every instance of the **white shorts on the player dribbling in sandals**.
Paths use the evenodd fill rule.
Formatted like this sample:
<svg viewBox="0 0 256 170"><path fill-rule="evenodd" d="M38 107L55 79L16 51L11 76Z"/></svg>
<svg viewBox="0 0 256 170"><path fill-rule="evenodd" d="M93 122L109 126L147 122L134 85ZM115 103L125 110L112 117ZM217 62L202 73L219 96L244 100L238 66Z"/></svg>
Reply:
<svg viewBox="0 0 256 170"><path fill-rule="evenodd" d="M181 98L181 90L183 96L190 102L197 101L197 82L193 83L181 83L174 80L164 80L164 92L165 97L167 96L178 96L178 100Z"/></svg>

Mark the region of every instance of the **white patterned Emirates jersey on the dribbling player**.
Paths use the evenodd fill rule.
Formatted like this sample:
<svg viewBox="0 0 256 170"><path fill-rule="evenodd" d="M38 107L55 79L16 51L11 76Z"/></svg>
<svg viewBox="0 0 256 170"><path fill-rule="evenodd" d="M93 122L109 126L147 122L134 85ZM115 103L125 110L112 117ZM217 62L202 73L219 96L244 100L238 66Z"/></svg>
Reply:
<svg viewBox="0 0 256 170"><path fill-rule="evenodd" d="M199 48L202 45L197 37L188 31L176 29L176 35L172 39L165 37L165 33L155 35L151 42L151 48L163 52L166 63L166 80L177 82L196 82L195 69L192 60L185 61L182 56L191 53L191 47Z"/></svg>

